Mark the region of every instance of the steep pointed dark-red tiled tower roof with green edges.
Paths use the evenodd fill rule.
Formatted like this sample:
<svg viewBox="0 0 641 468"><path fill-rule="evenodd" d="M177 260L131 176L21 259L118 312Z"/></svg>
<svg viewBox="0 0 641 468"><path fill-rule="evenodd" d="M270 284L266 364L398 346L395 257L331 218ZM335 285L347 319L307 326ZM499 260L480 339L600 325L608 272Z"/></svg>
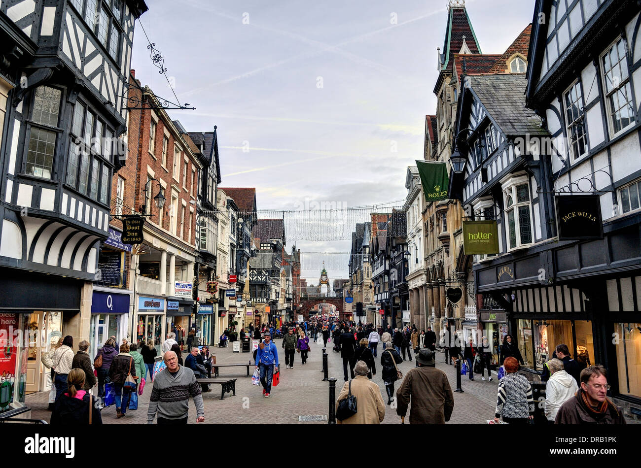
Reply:
<svg viewBox="0 0 641 468"><path fill-rule="evenodd" d="M458 54L463 46L463 36L465 44L472 54L480 54L481 47L478 44L472 22L467 15L465 7L453 6L449 10L447 17L447 26L445 27L445 41L441 50L439 61L442 64L439 72L437 84L434 92L438 92L440 84L445 74L451 74L454 69L454 54Z"/></svg>

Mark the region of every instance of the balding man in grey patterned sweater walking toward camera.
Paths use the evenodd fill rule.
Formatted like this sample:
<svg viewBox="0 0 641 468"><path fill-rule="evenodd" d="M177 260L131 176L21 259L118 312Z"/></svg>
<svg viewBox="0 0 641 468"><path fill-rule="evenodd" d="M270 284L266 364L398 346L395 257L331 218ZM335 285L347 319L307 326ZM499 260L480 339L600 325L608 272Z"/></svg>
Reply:
<svg viewBox="0 0 641 468"><path fill-rule="evenodd" d="M149 397L147 424L153 424L158 412L158 424L187 424L189 396L196 405L196 422L204 421L203 394L194 371L178 365L174 351L163 355L167 368L154 375L154 387Z"/></svg>

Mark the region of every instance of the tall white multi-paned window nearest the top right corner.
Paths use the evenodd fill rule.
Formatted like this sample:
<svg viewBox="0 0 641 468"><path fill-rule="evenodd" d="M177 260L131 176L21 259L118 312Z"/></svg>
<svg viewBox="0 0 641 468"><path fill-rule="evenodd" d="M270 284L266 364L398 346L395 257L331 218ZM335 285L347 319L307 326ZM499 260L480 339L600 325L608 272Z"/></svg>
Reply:
<svg viewBox="0 0 641 468"><path fill-rule="evenodd" d="M628 72L628 51L623 38L619 38L601 55L601 74L610 131L612 134L617 134L635 123Z"/></svg>

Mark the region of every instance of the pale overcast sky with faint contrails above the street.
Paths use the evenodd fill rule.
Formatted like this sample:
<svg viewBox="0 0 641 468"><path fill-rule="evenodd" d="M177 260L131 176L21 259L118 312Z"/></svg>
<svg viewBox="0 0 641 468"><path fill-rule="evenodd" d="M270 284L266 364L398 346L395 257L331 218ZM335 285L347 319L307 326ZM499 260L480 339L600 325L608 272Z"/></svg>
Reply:
<svg viewBox="0 0 641 468"><path fill-rule="evenodd" d="M446 0L147 4L142 25L179 101L196 108L170 115L188 131L218 125L222 187L256 187L258 209L403 200L407 166L422 159L425 115L435 113ZM466 7L481 51L497 54L531 22L534 1ZM131 68L173 97L138 26ZM319 241L297 241L301 254L349 252L348 240L311 230ZM316 282L322 256L313 259L319 265L303 277ZM347 264L329 275L347 278Z"/></svg>

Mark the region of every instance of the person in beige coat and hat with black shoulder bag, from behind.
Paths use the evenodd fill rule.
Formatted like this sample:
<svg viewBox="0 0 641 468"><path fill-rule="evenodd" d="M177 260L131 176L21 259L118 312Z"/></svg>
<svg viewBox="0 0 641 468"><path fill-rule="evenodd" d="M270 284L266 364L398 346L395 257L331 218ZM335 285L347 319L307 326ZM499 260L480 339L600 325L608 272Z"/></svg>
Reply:
<svg viewBox="0 0 641 468"><path fill-rule="evenodd" d="M356 397L356 414L344 421L336 421L337 424L379 424L385 418L385 403L381 397L381 388L367 378L369 367L362 360L354 366L356 377L352 382L352 394ZM349 382L345 382L340 391L338 401L347 398L349 394Z"/></svg>

